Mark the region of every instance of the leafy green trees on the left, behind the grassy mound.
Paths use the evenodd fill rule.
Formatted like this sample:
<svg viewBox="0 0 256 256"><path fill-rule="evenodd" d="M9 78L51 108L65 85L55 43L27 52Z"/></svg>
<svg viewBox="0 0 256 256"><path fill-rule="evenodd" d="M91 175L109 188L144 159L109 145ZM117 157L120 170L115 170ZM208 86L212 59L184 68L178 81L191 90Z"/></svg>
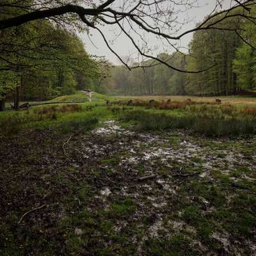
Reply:
<svg viewBox="0 0 256 256"><path fill-rule="evenodd" d="M14 13L13 7L5 6L0 16L22 12L20 5ZM19 109L22 99L54 97L83 88L104 91L99 81L107 61L92 58L72 31L49 20L36 20L0 33L0 110L13 97Z"/></svg>

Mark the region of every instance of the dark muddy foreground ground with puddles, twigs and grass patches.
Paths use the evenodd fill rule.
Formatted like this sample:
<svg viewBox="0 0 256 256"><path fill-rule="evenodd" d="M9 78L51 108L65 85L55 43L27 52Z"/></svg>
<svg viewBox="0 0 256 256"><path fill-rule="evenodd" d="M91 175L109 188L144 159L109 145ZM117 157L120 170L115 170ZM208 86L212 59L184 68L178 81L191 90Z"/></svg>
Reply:
<svg viewBox="0 0 256 256"><path fill-rule="evenodd" d="M254 137L109 120L0 139L0 255L256 255Z"/></svg>

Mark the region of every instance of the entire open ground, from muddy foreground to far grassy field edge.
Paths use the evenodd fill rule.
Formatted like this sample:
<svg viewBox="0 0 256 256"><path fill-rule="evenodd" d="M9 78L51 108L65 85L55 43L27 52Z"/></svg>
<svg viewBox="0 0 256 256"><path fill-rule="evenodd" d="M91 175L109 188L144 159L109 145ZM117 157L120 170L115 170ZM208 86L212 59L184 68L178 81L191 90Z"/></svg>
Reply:
<svg viewBox="0 0 256 256"><path fill-rule="evenodd" d="M255 99L168 98L0 113L0 255L254 255Z"/></svg>

